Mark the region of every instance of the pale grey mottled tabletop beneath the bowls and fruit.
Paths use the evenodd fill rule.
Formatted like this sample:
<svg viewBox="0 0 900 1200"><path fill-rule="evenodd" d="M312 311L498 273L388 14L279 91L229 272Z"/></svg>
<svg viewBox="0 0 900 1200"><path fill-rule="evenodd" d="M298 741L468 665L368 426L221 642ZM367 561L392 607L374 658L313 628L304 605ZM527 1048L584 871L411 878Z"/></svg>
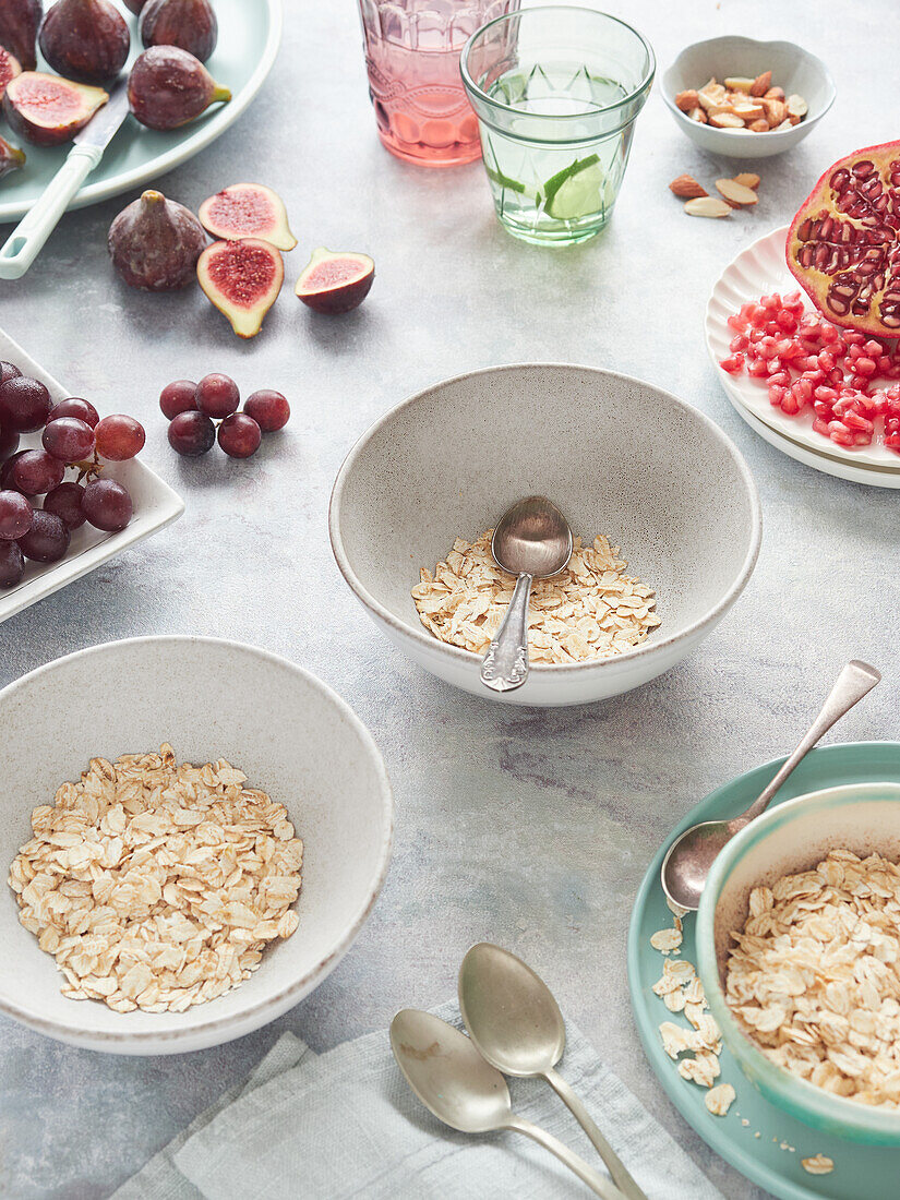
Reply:
<svg viewBox="0 0 900 1200"><path fill-rule="evenodd" d="M715 785L787 750L845 658L870 659L887 680L840 737L898 736L900 617L886 602L896 493L816 474L755 437L702 338L721 268L784 223L832 160L896 134L895 37L886 36L896 10L870 0L859 19L862 6L851 14L834 0L606 6L641 25L661 66L689 41L725 32L800 41L829 64L838 103L790 157L762 163L756 211L721 222L682 214L670 179L688 170L712 181L734 168L695 150L654 94L606 233L570 251L514 241L493 220L479 164L426 172L382 149L352 0L286 0L284 44L258 101L162 187L196 206L229 182L266 181L300 239L288 283L312 246L366 250L378 269L366 305L317 319L286 288L262 336L239 343L196 289L162 298L119 284L106 232L124 202L67 216L26 278L0 288L0 324L74 394L143 418L145 461L187 502L179 524L0 626L0 684L136 634L253 642L311 667L354 706L397 799L395 860L372 919L276 1026L215 1050L130 1060L0 1020L0 1195L109 1195L246 1074L280 1028L323 1050L384 1027L402 1004L450 996L466 948L493 938L552 983L728 1200L762 1200L692 1134L648 1069L625 935L672 824ZM329 550L331 481L371 421L444 376L529 359L613 367L673 390L730 433L762 493L760 564L725 623L668 676L594 707L515 710L438 684L379 637ZM166 443L160 388L212 370L245 392L275 386L290 398L288 432L248 463L182 461Z"/></svg>

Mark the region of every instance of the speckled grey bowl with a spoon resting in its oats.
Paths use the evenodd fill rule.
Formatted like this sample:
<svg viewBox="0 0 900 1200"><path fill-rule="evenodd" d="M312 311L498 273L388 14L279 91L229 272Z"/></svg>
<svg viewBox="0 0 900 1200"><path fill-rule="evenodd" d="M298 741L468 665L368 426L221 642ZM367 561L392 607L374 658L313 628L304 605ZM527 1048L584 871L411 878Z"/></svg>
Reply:
<svg viewBox="0 0 900 1200"><path fill-rule="evenodd" d="M628 654L534 666L524 686L494 692L478 655L425 629L410 588L454 538L539 492L575 534L622 547L656 588L662 624ZM740 454L690 404L611 371L527 364L448 379L376 422L341 467L330 532L366 611L426 670L494 701L578 704L655 678L715 628L752 572L761 516Z"/></svg>

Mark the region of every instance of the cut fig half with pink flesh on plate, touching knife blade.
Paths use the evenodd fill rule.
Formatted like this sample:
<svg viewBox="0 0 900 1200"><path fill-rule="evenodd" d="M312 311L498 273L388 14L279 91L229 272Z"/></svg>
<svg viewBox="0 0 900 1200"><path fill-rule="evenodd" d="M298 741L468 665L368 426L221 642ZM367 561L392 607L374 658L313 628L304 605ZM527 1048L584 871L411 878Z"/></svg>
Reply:
<svg viewBox="0 0 900 1200"><path fill-rule="evenodd" d="M4 114L19 137L36 146L55 146L83 130L108 100L102 88L23 71L6 88Z"/></svg>

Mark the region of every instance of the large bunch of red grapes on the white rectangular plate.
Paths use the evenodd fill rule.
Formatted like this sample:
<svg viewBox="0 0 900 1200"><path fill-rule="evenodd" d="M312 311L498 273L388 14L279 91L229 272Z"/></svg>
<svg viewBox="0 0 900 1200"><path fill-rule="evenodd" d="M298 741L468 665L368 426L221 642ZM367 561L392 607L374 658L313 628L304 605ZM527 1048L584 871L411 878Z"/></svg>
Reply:
<svg viewBox="0 0 900 1200"><path fill-rule="evenodd" d="M23 433L41 433L41 449L19 450ZM0 362L0 588L12 588L25 559L56 563L85 521L118 533L132 517L127 490L101 475L101 458L124 462L145 440L132 416L102 420L94 404L72 396L54 404L47 388ZM78 480L66 480L66 470ZM37 498L43 496L43 505Z"/></svg>

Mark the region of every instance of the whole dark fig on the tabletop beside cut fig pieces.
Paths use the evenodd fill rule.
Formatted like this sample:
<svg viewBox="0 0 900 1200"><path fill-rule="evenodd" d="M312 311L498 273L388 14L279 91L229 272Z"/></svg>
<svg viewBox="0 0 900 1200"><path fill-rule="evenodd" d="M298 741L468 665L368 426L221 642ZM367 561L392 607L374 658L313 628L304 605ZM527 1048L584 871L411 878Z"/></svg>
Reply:
<svg viewBox="0 0 900 1200"><path fill-rule="evenodd" d="M196 278L206 234L184 204L144 192L109 227L113 265L131 288L172 292Z"/></svg>

